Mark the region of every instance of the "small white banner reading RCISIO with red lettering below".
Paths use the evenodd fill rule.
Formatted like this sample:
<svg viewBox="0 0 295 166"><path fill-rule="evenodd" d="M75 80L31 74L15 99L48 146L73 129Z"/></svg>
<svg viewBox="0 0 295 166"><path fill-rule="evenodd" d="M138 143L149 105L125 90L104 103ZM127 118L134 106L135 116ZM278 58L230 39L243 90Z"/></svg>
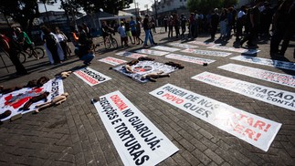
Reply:
<svg viewBox="0 0 295 166"><path fill-rule="evenodd" d="M73 73L90 86L95 86L111 79L90 67L80 68Z"/></svg>

